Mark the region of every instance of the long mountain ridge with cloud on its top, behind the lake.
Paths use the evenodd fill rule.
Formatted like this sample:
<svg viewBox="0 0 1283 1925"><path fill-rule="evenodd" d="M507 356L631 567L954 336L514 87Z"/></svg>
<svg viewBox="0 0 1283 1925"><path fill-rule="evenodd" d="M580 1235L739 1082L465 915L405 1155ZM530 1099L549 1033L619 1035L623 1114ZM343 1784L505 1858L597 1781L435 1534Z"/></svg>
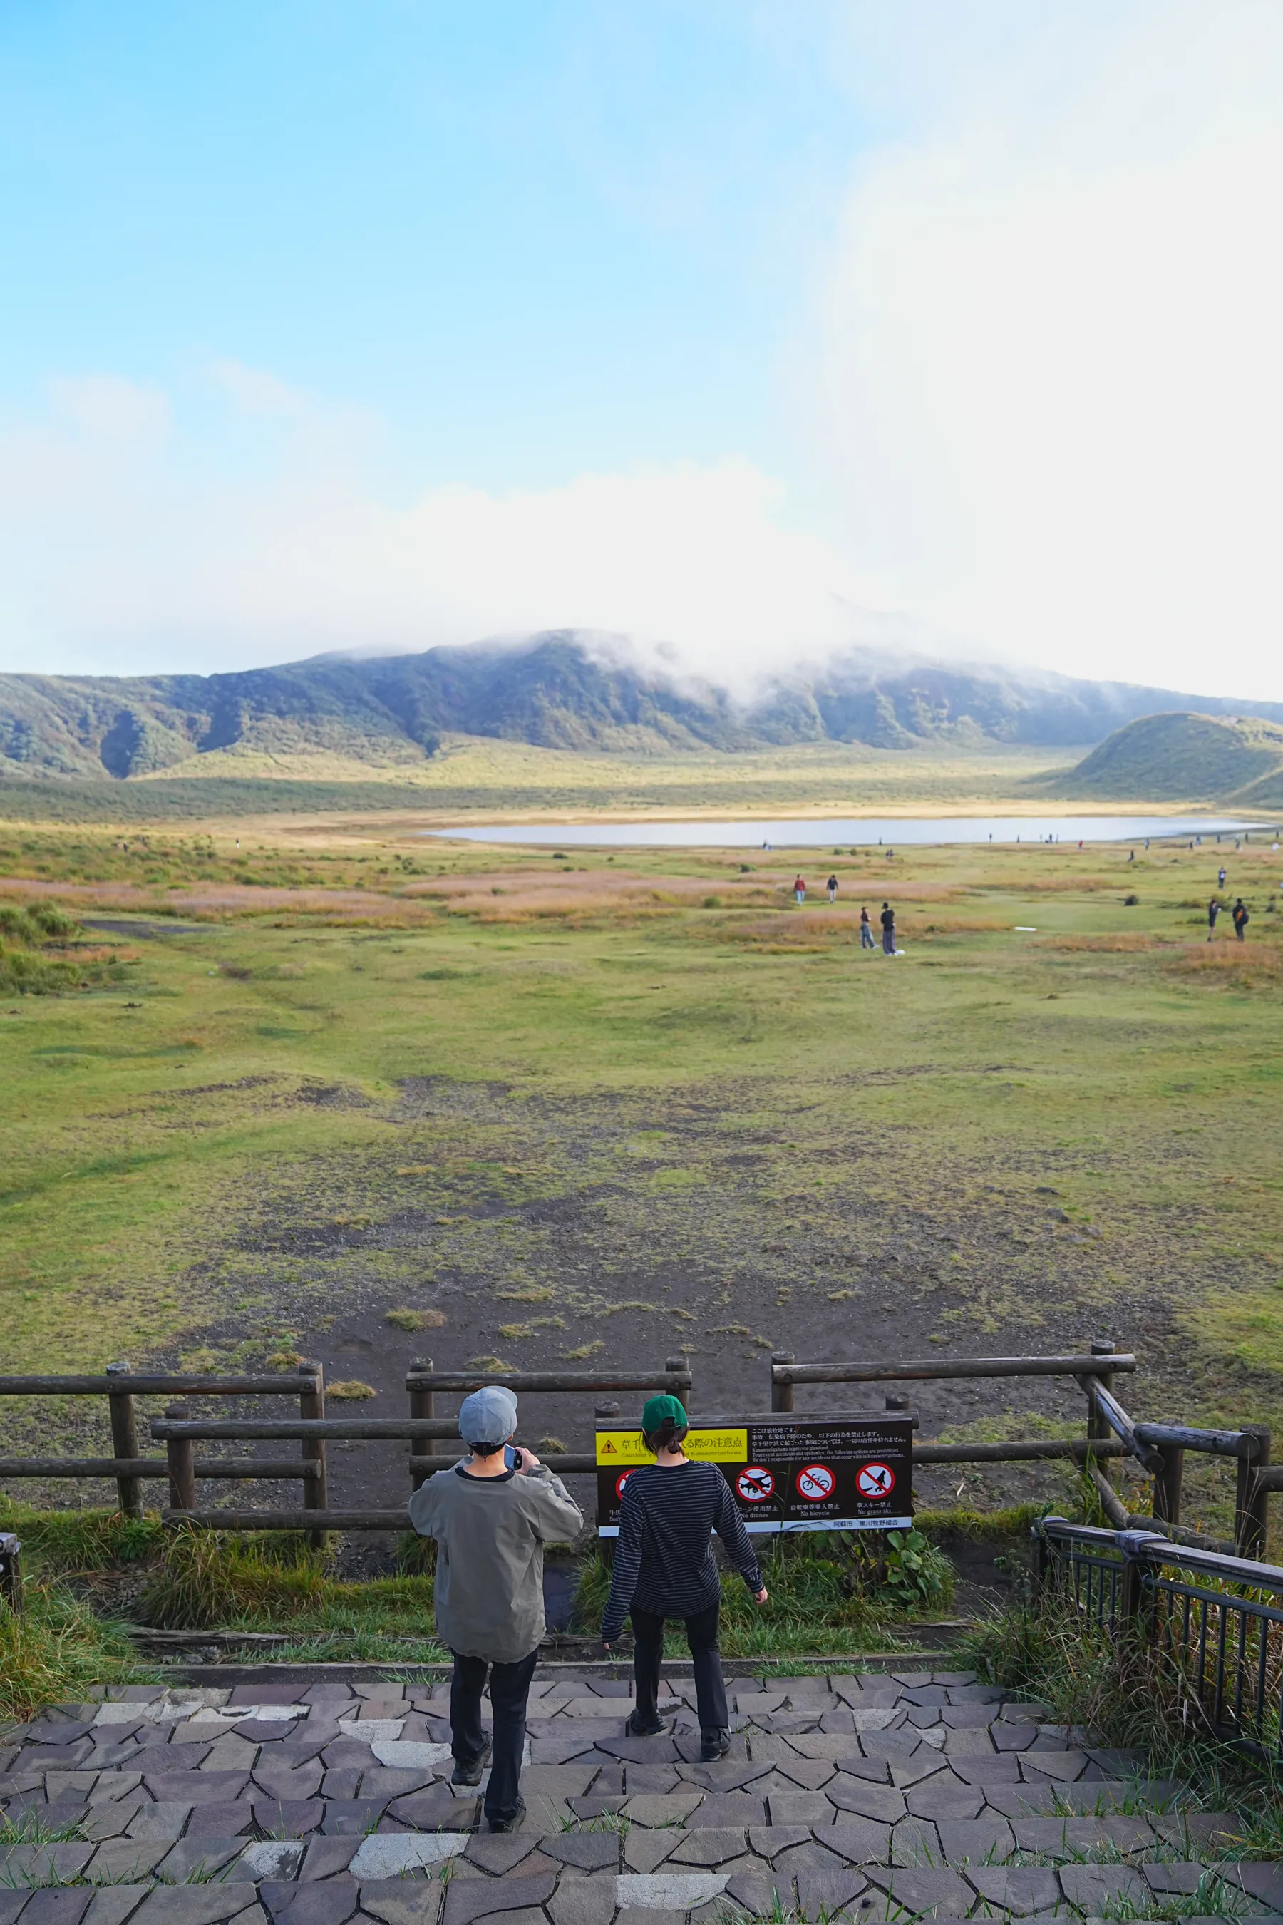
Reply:
<svg viewBox="0 0 1283 1925"><path fill-rule="evenodd" d="M1281 703L873 649L735 699L656 668L627 637L556 629L521 643L317 656L219 676L0 676L0 774L121 782L183 764L196 774L217 751L265 753L279 764L325 751L410 768L435 755L442 735L594 755L735 755L823 741L1089 747L1139 716L1189 708L1283 722Z"/></svg>

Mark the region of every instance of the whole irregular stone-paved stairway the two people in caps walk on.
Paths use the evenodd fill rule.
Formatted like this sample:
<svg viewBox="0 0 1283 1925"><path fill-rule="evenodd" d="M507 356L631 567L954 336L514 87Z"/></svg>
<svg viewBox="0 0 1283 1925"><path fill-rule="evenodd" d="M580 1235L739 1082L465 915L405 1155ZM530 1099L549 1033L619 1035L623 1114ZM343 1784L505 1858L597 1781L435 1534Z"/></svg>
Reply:
<svg viewBox="0 0 1283 1925"><path fill-rule="evenodd" d="M1283 1869L1202 1863L1233 1815L968 1673L739 1682L716 1765L689 1684L664 1736L627 1711L625 1682L539 1679L527 1817L494 1836L448 1783L448 1686L98 1692L0 1734L27 1840L0 1846L0 1925L1283 1917Z"/></svg>

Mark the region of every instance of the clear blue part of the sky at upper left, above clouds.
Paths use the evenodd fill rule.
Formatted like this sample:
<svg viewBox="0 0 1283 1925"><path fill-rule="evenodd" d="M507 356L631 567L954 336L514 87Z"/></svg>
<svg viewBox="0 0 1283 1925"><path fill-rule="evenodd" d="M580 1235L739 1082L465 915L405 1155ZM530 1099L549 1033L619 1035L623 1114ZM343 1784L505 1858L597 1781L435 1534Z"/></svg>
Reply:
<svg viewBox="0 0 1283 1925"><path fill-rule="evenodd" d="M415 485L785 458L773 381L862 116L823 12L10 10L6 398L229 356ZM731 321L731 325L727 325Z"/></svg>

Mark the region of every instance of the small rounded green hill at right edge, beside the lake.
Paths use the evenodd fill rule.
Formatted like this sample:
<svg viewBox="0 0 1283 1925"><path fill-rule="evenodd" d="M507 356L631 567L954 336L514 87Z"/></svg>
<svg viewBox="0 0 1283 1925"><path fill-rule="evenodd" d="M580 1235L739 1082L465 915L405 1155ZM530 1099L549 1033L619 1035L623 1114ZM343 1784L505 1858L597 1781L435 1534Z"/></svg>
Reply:
<svg viewBox="0 0 1283 1925"><path fill-rule="evenodd" d="M1137 803L1283 801L1283 726L1260 716L1158 714L1116 730L1062 795Z"/></svg>

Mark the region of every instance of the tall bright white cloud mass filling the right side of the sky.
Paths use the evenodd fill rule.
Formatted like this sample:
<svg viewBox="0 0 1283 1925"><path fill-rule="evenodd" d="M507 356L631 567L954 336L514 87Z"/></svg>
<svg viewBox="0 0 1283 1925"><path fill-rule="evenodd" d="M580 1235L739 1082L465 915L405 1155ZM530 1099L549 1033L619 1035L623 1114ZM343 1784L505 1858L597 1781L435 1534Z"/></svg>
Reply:
<svg viewBox="0 0 1283 1925"><path fill-rule="evenodd" d="M1004 651L1279 697L1283 15L1037 17L846 200L800 391L852 549Z"/></svg>

